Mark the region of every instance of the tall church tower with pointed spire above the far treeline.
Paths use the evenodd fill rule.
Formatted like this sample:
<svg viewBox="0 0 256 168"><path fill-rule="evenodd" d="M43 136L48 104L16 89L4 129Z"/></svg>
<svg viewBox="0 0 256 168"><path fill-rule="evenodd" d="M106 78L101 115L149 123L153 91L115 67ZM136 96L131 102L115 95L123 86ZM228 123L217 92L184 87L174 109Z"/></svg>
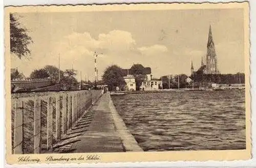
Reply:
<svg viewBox="0 0 256 168"><path fill-rule="evenodd" d="M215 52L214 39L212 38L211 26L209 28L207 55L206 55L206 74L219 74L217 67L217 56Z"/></svg>

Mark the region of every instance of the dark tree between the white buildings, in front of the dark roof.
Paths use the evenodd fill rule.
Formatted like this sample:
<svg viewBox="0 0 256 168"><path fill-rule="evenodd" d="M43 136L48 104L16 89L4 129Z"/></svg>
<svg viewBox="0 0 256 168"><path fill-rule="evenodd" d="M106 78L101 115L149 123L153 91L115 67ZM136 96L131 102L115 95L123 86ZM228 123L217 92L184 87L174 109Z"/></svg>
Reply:
<svg viewBox="0 0 256 168"><path fill-rule="evenodd" d="M136 90L140 89L141 82L146 80L146 75L144 73L144 66L141 64L134 64L131 67L131 73L135 77Z"/></svg>

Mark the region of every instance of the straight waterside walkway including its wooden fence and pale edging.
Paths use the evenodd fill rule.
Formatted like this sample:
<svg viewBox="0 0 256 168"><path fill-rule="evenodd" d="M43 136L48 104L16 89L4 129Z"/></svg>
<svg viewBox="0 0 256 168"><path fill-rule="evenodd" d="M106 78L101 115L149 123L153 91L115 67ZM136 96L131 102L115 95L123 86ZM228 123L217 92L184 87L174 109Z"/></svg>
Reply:
<svg viewBox="0 0 256 168"><path fill-rule="evenodd" d="M142 151L102 90L14 93L12 153Z"/></svg>

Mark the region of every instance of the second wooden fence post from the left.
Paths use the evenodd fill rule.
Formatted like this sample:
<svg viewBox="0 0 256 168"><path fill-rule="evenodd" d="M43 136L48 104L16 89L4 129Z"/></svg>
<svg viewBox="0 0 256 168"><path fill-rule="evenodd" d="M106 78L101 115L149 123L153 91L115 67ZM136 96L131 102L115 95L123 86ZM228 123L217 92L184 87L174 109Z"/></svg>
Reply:
<svg viewBox="0 0 256 168"><path fill-rule="evenodd" d="M34 153L40 153L41 142L41 100L34 102Z"/></svg>

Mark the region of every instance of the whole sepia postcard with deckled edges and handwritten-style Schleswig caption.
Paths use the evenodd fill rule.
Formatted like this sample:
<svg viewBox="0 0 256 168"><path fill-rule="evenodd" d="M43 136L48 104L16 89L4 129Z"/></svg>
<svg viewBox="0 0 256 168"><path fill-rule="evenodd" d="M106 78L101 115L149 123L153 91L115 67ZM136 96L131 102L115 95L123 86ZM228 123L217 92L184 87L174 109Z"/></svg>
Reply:
<svg viewBox="0 0 256 168"><path fill-rule="evenodd" d="M249 3L5 7L9 164L251 157Z"/></svg>

